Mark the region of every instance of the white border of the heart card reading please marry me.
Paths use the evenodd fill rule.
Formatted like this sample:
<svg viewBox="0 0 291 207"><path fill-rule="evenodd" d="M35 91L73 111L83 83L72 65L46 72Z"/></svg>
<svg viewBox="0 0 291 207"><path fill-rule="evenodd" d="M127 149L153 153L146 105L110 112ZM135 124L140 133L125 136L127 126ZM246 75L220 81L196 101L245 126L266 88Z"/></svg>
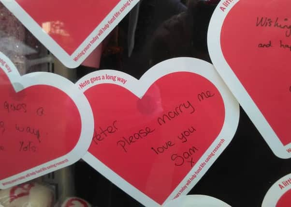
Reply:
<svg viewBox="0 0 291 207"><path fill-rule="evenodd" d="M120 85L127 90L131 91L131 93L135 94L138 97L142 97L147 89L152 85L153 82L160 79L161 77L168 75L170 73L174 72L191 72L196 73L198 75L203 76L205 79L212 82L220 92L222 99L224 101L225 105L225 121L223 124L223 127L216 138L216 140L210 145L210 147L205 151L204 155L197 161L195 166L192 168L192 170L188 173L188 175L185 176L185 178L181 181L181 183L175 188L175 190L171 193L171 195L164 201L164 204L170 200L172 200L175 195L178 193L178 191L185 186L187 180L191 175L194 174L194 171L199 168L199 165L201 162L203 162L207 156L213 151L213 149L218 145L220 142L220 139L225 140L225 144L223 144L218 152L216 153L216 158L211 159L207 163L207 167L205 166L202 171L197 175L197 177L194 179L194 181L191 182L189 185L189 188L187 188L183 194L188 193L191 188L195 186L195 184L201 179L201 177L206 173L206 171L211 167L211 165L214 163L216 159L218 159L218 156L223 152L223 150L229 145L231 140L233 139L233 135L237 129L238 126L238 120L239 120L239 105L236 101L236 99L233 97L223 80L218 75L217 71L214 69L212 64L209 64L205 61L195 59L195 58L174 58L170 60L166 60L164 62L161 62L152 68L150 68L148 71L145 72L145 74L141 77L140 80L137 80L133 78L132 76L115 70L100 70L95 71L93 73L90 73L86 76L84 76L82 79L78 80L76 85L79 86L80 83L84 82L85 80L89 80L92 77L96 76L102 76L105 74L110 75L116 75L118 77L124 78L127 80L126 84L121 84L119 82L114 82L110 80L98 80L94 82L93 84L87 85L84 88L79 89L82 92L85 92L87 89L98 85L102 83L112 83L116 85ZM138 86L138 87L137 87ZM108 168L105 164L103 164L99 159L95 158L92 154L87 152L87 154L83 158L90 166L92 166L95 170L100 172L103 176L105 176L107 179L109 179L111 182L113 182L116 186L121 188L123 191L131 195L134 199L139 201L145 206L150 207L158 207L160 206L158 203L156 203L154 200L149 198L147 195L145 195L143 192L136 189L134 186L132 186L129 182L124 180L122 177L117 175L115 172L113 172L110 168Z"/></svg>

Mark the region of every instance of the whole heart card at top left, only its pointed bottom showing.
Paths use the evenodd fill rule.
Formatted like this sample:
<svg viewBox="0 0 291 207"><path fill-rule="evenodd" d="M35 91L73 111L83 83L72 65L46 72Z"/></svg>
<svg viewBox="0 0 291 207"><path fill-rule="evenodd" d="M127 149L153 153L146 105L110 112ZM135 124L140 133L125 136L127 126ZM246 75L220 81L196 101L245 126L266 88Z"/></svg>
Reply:
<svg viewBox="0 0 291 207"><path fill-rule="evenodd" d="M77 67L139 0L0 0L67 67Z"/></svg>

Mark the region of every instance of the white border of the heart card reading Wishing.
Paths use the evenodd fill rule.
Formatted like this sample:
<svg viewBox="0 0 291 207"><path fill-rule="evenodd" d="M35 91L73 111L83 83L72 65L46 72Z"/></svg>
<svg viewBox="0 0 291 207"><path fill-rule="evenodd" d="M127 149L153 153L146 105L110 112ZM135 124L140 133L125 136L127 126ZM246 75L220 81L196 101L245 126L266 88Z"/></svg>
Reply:
<svg viewBox="0 0 291 207"><path fill-rule="evenodd" d="M207 34L207 45L211 61L213 62L215 68L218 70L219 75L233 92L233 95L238 99L241 106L247 112L247 115L257 127L273 153L282 159L291 158L291 153L287 152L287 149L291 148L291 143L287 144L286 146L281 143L275 131L269 125L255 102L248 95L243 84L236 77L230 65L227 63L223 56L220 47L221 28L225 17L237 2L239 2L239 0L233 0L231 4L226 7L225 11L222 12L220 6L225 6L223 5L223 1L220 1L211 17Z"/></svg>

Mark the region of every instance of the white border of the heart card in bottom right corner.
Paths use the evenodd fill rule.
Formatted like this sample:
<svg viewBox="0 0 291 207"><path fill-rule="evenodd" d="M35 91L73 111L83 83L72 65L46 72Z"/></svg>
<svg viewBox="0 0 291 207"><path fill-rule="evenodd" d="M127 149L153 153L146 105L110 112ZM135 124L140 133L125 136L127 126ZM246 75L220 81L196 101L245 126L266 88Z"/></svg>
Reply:
<svg viewBox="0 0 291 207"><path fill-rule="evenodd" d="M286 186L284 189L279 188L279 184L282 184L283 181L286 181L291 178L291 174L285 175L284 177L280 178L272 185L272 187L267 191L263 202L262 207L275 207L278 203L279 199L282 197L282 195L285 194L285 192L289 191L291 189L291 184Z"/></svg>

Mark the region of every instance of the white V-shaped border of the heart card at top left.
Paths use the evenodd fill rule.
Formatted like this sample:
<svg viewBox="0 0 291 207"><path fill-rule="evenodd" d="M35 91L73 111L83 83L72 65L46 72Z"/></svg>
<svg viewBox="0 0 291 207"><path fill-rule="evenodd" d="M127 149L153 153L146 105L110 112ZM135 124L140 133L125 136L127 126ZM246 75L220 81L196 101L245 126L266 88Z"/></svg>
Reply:
<svg viewBox="0 0 291 207"><path fill-rule="evenodd" d="M131 11L131 9L139 2L139 0L131 0L130 6L126 7L126 10L122 12L114 21L110 27L104 31L101 37L92 44L92 46L87 50L86 54L83 55L77 61L74 61L73 58L76 57L84 48L90 40L95 37L102 27L108 23L108 20L114 16L114 14L119 11L119 9L127 2L128 0L120 0L119 3L112 9L112 11L102 20L102 22L91 32L86 39L79 45L78 48L73 52L72 55L69 55L63 48L61 48L58 43L49 36L40 25L31 17L29 14L15 1L15 0L0 0L6 8L11 11L14 16L48 49L50 50L66 67L75 68L83 63L83 61L90 55L90 53L97 48L97 46L106 38L106 36L117 26L117 24Z"/></svg>

